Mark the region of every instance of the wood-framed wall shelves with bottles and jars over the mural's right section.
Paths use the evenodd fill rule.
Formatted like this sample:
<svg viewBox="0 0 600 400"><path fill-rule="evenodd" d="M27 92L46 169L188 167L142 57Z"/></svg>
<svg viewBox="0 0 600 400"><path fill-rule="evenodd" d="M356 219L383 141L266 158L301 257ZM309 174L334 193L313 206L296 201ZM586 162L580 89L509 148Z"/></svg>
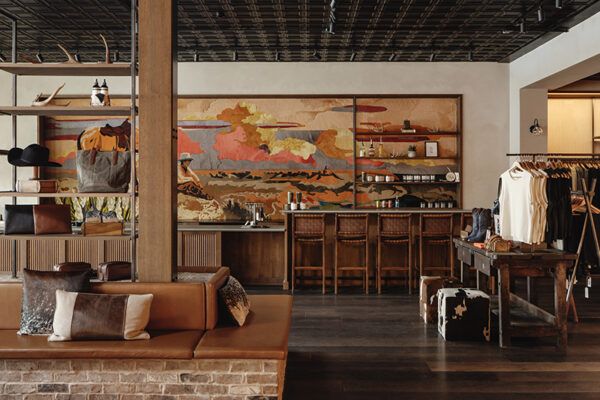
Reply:
<svg viewBox="0 0 600 400"><path fill-rule="evenodd" d="M432 117L436 109L428 108L412 113L403 101L407 98L418 104L420 100L444 99L443 112L445 119ZM368 105L377 103L379 113L360 111L360 103ZM398 100L398 103L394 103ZM396 105L395 105L396 104ZM402 95L402 96L357 96L354 107L354 200L356 209L372 208L377 200L393 200L404 194L420 197L426 201L449 201L452 199L457 207L462 205L462 96L461 95ZM396 108L393 108L396 107ZM418 107L415 107L417 109ZM393 113L390 110L394 110ZM433 110L433 111L432 111ZM406 114L402 115L406 111ZM386 114L387 113L387 114ZM411 114L412 113L412 114ZM411 118L414 117L414 118ZM414 133L403 133L400 128L405 119L411 119ZM380 124L377 125L377 124ZM365 127L367 126L367 127ZM439 131L437 129L440 129ZM386 130L387 129L387 130ZM375 147L374 157L368 157L370 143ZM438 156L425 155L425 142L438 143ZM382 144L382 152L378 152ZM408 157L408 147L417 147L417 156ZM361 149L364 150L361 156ZM370 153L373 154L373 153ZM398 154L400 157L392 157ZM437 175L443 178L448 172L458 173L458 182L449 181L404 181L402 175ZM361 179L361 173L368 175L392 175L393 182L366 182Z"/></svg>

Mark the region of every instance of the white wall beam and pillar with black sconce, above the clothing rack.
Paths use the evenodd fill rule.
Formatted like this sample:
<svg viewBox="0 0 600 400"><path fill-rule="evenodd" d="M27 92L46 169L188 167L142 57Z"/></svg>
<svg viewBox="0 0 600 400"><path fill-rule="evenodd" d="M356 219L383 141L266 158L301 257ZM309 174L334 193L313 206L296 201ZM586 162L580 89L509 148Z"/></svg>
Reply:
<svg viewBox="0 0 600 400"><path fill-rule="evenodd" d="M547 91L600 72L600 13L510 63L510 150L545 152L531 137L534 118L547 129Z"/></svg>

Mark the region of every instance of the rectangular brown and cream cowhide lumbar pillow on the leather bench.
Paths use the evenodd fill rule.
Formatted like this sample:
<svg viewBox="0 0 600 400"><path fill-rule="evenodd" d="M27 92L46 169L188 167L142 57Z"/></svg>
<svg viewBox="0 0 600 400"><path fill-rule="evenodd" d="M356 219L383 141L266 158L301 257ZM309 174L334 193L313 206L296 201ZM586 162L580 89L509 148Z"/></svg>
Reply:
<svg viewBox="0 0 600 400"><path fill-rule="evenodd" d="M54 332L49 342L150 339L152 294L92 294L56 291Z"/></svg>

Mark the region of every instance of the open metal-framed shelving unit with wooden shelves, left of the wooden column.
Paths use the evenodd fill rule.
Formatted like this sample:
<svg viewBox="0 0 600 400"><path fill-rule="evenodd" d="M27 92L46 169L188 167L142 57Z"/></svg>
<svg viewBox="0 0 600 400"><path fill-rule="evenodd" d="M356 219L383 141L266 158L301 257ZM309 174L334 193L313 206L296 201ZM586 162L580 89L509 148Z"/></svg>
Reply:
<svg viewBox="0 0 600 400"><path fill-rule="evenodd" d="M18 116L114 116L114 117L129 117L131 123L130 143L134 143L132 153L136 153L136 129L137 129L137 0L130 0L131 7L131 62L130 63L115 63L107 64L98 63L81 63L81 64L58 64L58 63L18 63L18 20L0 10L0 17L7 18L11 23L11 39L12 51L11 62L0 63L0 70L6 71L13 75L12 77L12 96L10 106L0 106L0 115L8 115L11 117L12 130L12 147L17 147L17 117ZM131 94L129 106L112 106L112 107L70 107L49 105L43 107L17 105L17 77L18 76L129 76L131 79ZM8 150L0 150L0 155L5 156ZM131 157L131 181L130 193L18 193L17 186L17 170L12 167L12 190L0 192L0 197L12 198L12 204L17 204L18 198L65 198L65 197L120 197L130 199L130 215L129 233L119 236L83 236L81 233L71 235L4 235L5 239L12 241L12 274L17 277L17 242L33 241L33 240L88 240L88 241L107 241L107 240L124 240L130 241L131 251L131 276L132 280L136 279L136 157Z"/></svg>

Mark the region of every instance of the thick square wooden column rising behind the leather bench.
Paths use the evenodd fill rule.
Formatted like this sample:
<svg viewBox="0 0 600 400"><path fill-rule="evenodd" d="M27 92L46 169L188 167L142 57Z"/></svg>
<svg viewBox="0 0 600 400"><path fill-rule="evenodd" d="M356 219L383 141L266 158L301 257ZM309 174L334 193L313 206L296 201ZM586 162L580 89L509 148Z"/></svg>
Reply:
<svg viewBox="0 0 600 400"><path fill-rule="evenodd" d="M170 282L177 267L177 0L139 2L138 279Z"/></svg>

